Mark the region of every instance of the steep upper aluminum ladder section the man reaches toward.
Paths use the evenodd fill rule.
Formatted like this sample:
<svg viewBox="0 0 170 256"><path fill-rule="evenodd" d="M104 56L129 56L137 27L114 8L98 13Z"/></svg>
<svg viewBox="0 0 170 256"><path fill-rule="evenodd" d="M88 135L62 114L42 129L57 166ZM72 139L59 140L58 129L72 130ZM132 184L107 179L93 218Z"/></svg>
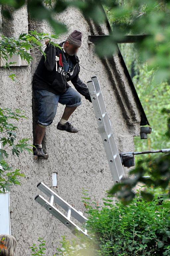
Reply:
<svg viewBox="0 0 170 256"><path fill-rule="evenodd" d="M125 177L125 173L97 76L92 77L91 81L87 82L87 87L89 89L93 109L98 123L98 130L102 137L113 181L115 183L120 183L121 179Z"/></svg>

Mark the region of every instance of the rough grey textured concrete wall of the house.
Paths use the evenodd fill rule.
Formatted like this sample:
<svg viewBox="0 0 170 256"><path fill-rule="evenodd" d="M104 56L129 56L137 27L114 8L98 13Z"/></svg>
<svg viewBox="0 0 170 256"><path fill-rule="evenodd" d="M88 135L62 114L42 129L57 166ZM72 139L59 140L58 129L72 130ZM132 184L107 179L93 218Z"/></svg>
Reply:
<svg viewBox="0 0 170 256"><path fill-rule="evenodd" d="M8 24L13 36L28 32L26 7L18 10L14 19L14 22ZM139 135L140 112L120 66L119 57L115 55L101 61L95 55L94 45L88 44L90 34L108 34L106 26L96 28L75 8L68 8L56 15L56 19L67 25L68 33L55 42L64 41L75 29L82 32L83 43L78 57L80 64L91 71L81 67L79 77L86 83L92 76L98 76L118 148L120 151L132 151L133 137ZM46 22L29 20L29 23L31 30L53 33ZM33 140L31 80L40 57L36 53L32 65L11 68L17 75L17 82L12 82L8 78L9 71L0 67L0 106L12 109L18 107L26 111L29 119L18 122L18 139L29 137L30 142ZM74 88L71 83L70 85ZM71 116L70 121L80 130L77 134L56 129L63 110L64 106L59 104L53 123L46 129L44 143L49 154L47 160L34 161L33 156L28 153L23 153L19 158L9 158L13 168L20 168L26 174L22 178L22 185L13 186L10 194L13 211L11 231L18 241L17 256L30 255L29 246L39 236L47 241L49 256L54 254L62 235L68 235L69 238L73 236L63 224L34 201L39 194L39 182L52 188L52 172L58 173L58 187L54 191L82 212L85 210L81 202L82 188L89 190L92 200L101 203L106 196L105 191L113 185L92 104L82 96L82 105Z"/></svg>

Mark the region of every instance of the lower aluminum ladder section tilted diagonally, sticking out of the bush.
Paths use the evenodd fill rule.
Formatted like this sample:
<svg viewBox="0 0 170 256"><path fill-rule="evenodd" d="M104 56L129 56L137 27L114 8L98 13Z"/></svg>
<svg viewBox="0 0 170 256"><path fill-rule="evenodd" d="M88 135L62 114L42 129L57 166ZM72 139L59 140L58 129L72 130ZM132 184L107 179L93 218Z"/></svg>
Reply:
<svg viewBox="0 0 170 256"><path fill-rule="evenodd" d="M70 204L68 204L65 200L63 200L60 196L58 196L55 192L53 192L50 188L48 188L43 182L39 183L37 185L37 188L39 188L47 197L49 197L50 200L47 201L41 195L38 195L35 197L36 202L42 205L49 213L51 213L55 218L57 218L67 228L69 228L73 234L76 234L76 232L78 231L83 235L87 236L88 238L90 238L87 234L86 229L81 229L71 220L71 217L73 217L74 219L78 220L80 223L85 223L87 221L87 218L83 216L83 213L81 211L77 211L76 209L74 209ZM62 212L60 212L53 205L53 203L63 208L67 212L67 216L65 216Z"/></svg>

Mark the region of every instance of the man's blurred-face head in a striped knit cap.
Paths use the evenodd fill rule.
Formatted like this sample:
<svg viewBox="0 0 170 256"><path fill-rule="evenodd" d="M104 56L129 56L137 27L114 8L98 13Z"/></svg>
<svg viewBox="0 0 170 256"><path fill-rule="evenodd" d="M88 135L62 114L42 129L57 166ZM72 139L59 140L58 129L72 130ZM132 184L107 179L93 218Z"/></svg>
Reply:
<svg viewBox="0 0 170 256"><path fill-rule="evenodd" d="M80 31L74 30L64 42L64 50L68 55L74 55L77 53L81 46L82 33Z"/></svg>

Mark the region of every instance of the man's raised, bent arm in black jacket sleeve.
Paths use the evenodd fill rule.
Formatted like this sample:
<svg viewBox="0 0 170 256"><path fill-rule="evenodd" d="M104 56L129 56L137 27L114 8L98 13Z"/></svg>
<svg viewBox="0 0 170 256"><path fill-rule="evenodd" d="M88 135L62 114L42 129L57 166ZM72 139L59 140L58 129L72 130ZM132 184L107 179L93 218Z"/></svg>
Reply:
<svg viewBox="0 0 170 256"><path fill-rule="evenodd" d="M52 71L55 67L55 46L48 43L44 52L46 53L44 65L48 71Z"/></svg>

